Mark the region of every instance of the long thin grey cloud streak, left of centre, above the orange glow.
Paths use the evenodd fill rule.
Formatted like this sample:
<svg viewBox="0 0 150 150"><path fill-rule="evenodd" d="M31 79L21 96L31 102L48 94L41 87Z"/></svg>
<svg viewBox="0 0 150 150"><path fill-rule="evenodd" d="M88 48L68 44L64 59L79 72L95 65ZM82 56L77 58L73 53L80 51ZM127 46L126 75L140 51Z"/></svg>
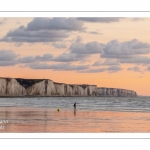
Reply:
<svg viewBox="0 0 150 150"><path fill-rule="evenodd" d="M52 69L59 71L71 71L71 70L85 70L88 69L88 65L71 65L69 63L61 63L61 64L46 64L46 63L34 63L27 65L31 69Z"/></svg>

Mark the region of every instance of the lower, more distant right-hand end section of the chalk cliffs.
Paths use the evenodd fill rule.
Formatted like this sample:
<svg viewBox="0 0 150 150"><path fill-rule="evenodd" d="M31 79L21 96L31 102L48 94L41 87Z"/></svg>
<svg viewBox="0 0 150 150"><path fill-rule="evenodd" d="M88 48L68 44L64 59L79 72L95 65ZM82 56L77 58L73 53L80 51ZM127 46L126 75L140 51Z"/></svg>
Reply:
<svg viewBox="0 0 150 150"><path fill-rule="evenodd" d="M120 96L120 97L135 97L136 92L125 89L116 88L97 88L97 96Z"/></svg>

